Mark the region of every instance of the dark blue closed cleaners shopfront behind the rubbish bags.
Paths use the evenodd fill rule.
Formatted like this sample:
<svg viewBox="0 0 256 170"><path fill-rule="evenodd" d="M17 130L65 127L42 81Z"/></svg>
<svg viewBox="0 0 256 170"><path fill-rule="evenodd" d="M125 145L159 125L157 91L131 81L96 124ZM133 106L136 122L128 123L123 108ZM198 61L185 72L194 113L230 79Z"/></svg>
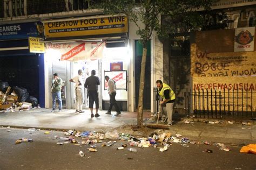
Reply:
<svg viewBox="0 0 256 170"><path fill-rule="evenodd" d="M29 38L41 33L38 22L0 25L0 81L27 89L44 107L44 54L29 48Z"/></svg>

